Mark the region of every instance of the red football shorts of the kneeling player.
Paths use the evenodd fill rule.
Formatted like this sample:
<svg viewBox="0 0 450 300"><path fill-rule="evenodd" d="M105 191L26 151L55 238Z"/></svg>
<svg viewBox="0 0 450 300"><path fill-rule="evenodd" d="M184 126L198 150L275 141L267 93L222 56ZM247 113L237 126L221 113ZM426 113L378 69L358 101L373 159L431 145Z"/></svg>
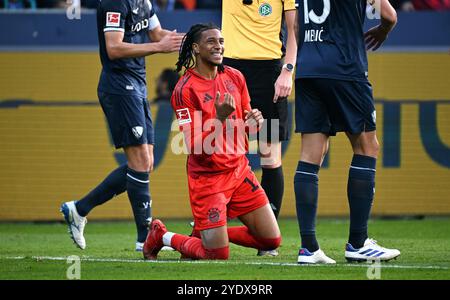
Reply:
<svg viewBox="0 0 450 300"><path fill-rule="evenodd" d="M188 175L189 196L195 229L227 224L227 219L245 215L269 203L250 166L218 175Z"/></svg>

